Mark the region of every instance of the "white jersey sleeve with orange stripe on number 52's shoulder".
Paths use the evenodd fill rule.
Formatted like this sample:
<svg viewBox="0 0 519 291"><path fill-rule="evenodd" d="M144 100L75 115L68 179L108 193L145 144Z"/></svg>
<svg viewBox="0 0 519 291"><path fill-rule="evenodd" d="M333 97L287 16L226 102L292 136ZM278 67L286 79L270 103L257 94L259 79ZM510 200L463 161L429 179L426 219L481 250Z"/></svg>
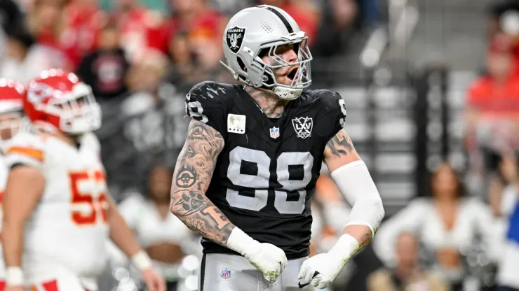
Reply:
<svg viewBox="0 0 519 291"><path fill-rule="evenodd" d="M6 147L6 160L8 167L14 164L27 164L37 169L42 169L45 159L44 136L36 134L20 133Z"/></svg>

